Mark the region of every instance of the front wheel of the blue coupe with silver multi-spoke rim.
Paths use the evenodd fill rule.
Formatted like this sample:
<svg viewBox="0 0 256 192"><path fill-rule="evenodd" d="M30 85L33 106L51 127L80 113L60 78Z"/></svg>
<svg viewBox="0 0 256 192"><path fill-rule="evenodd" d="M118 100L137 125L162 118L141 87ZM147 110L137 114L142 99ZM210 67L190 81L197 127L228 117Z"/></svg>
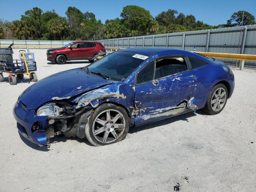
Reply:
<svg viewBox="0 0 256 192"><path fill-rule="evenodd" d="M111 103L104 103L89 116L85 136L94 146L113 144L126 137L129 127L129 117L124 108ZM104 138L106 139L104 140Z"/></svg>

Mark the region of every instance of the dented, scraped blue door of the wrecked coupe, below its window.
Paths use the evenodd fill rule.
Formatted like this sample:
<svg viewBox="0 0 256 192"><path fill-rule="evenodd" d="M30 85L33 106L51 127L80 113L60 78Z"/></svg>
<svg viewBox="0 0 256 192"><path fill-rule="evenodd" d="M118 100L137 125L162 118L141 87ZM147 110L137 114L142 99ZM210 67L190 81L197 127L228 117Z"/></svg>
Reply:
<svg viewBox="0 0 256 192"><path fill-rule="evenodd" d="M136 86L135 124L140 125L181 114L192 109L188 101L196 105L204 97L204 82L193 70L158 79L158 85L147 82ZM201 79L202 80L202 79Z"/></svg>

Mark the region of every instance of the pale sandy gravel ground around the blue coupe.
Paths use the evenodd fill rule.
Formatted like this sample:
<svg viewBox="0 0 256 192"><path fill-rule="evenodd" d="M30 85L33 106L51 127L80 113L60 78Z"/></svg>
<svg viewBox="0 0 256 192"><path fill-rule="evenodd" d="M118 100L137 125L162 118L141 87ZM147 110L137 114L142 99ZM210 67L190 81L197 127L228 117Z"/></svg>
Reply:
<svg viewBox="0 0 256 192"><path fill-rule="evenodd" d="M31 51L39 80L87 63L48 64L46 50ZM58 137L45 148L20 138L12 108L33 83L0 83L0 192L172 192L177 183L182 192L255 192L256 71L234 74L234 94L220 114L130 128L125 140L102 147Z"/></svg>

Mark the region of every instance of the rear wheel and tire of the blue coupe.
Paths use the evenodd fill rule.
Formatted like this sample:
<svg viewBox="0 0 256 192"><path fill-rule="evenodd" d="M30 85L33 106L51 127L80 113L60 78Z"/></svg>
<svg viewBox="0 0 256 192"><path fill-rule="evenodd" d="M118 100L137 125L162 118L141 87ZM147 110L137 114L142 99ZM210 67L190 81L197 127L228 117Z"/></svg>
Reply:
<svg viewBox="0 0 256 192"><path fill-rule="evenodd" d="M219 94L219 90L220 90L220 94ZM212 88L206 100L206 104L202 110L205 113L210 115L219 114L226 106L227 99L228 99L228 89L224 84L217 84Z"/></svg>

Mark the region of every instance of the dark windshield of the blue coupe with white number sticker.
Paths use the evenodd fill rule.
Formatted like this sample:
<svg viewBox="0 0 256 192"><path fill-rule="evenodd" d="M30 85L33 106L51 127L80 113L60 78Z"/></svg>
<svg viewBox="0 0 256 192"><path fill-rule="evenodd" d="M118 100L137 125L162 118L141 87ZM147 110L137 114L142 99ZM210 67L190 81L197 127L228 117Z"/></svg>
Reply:
<svg viewBox="0 0 256 192"><path fill-rule="evenodd" d="M145 59L135 58L133 57L134 55L138 54L117 51L94 62L88 66L88 69L91 72L100 73L114 80L124 80Z"/></svg>

